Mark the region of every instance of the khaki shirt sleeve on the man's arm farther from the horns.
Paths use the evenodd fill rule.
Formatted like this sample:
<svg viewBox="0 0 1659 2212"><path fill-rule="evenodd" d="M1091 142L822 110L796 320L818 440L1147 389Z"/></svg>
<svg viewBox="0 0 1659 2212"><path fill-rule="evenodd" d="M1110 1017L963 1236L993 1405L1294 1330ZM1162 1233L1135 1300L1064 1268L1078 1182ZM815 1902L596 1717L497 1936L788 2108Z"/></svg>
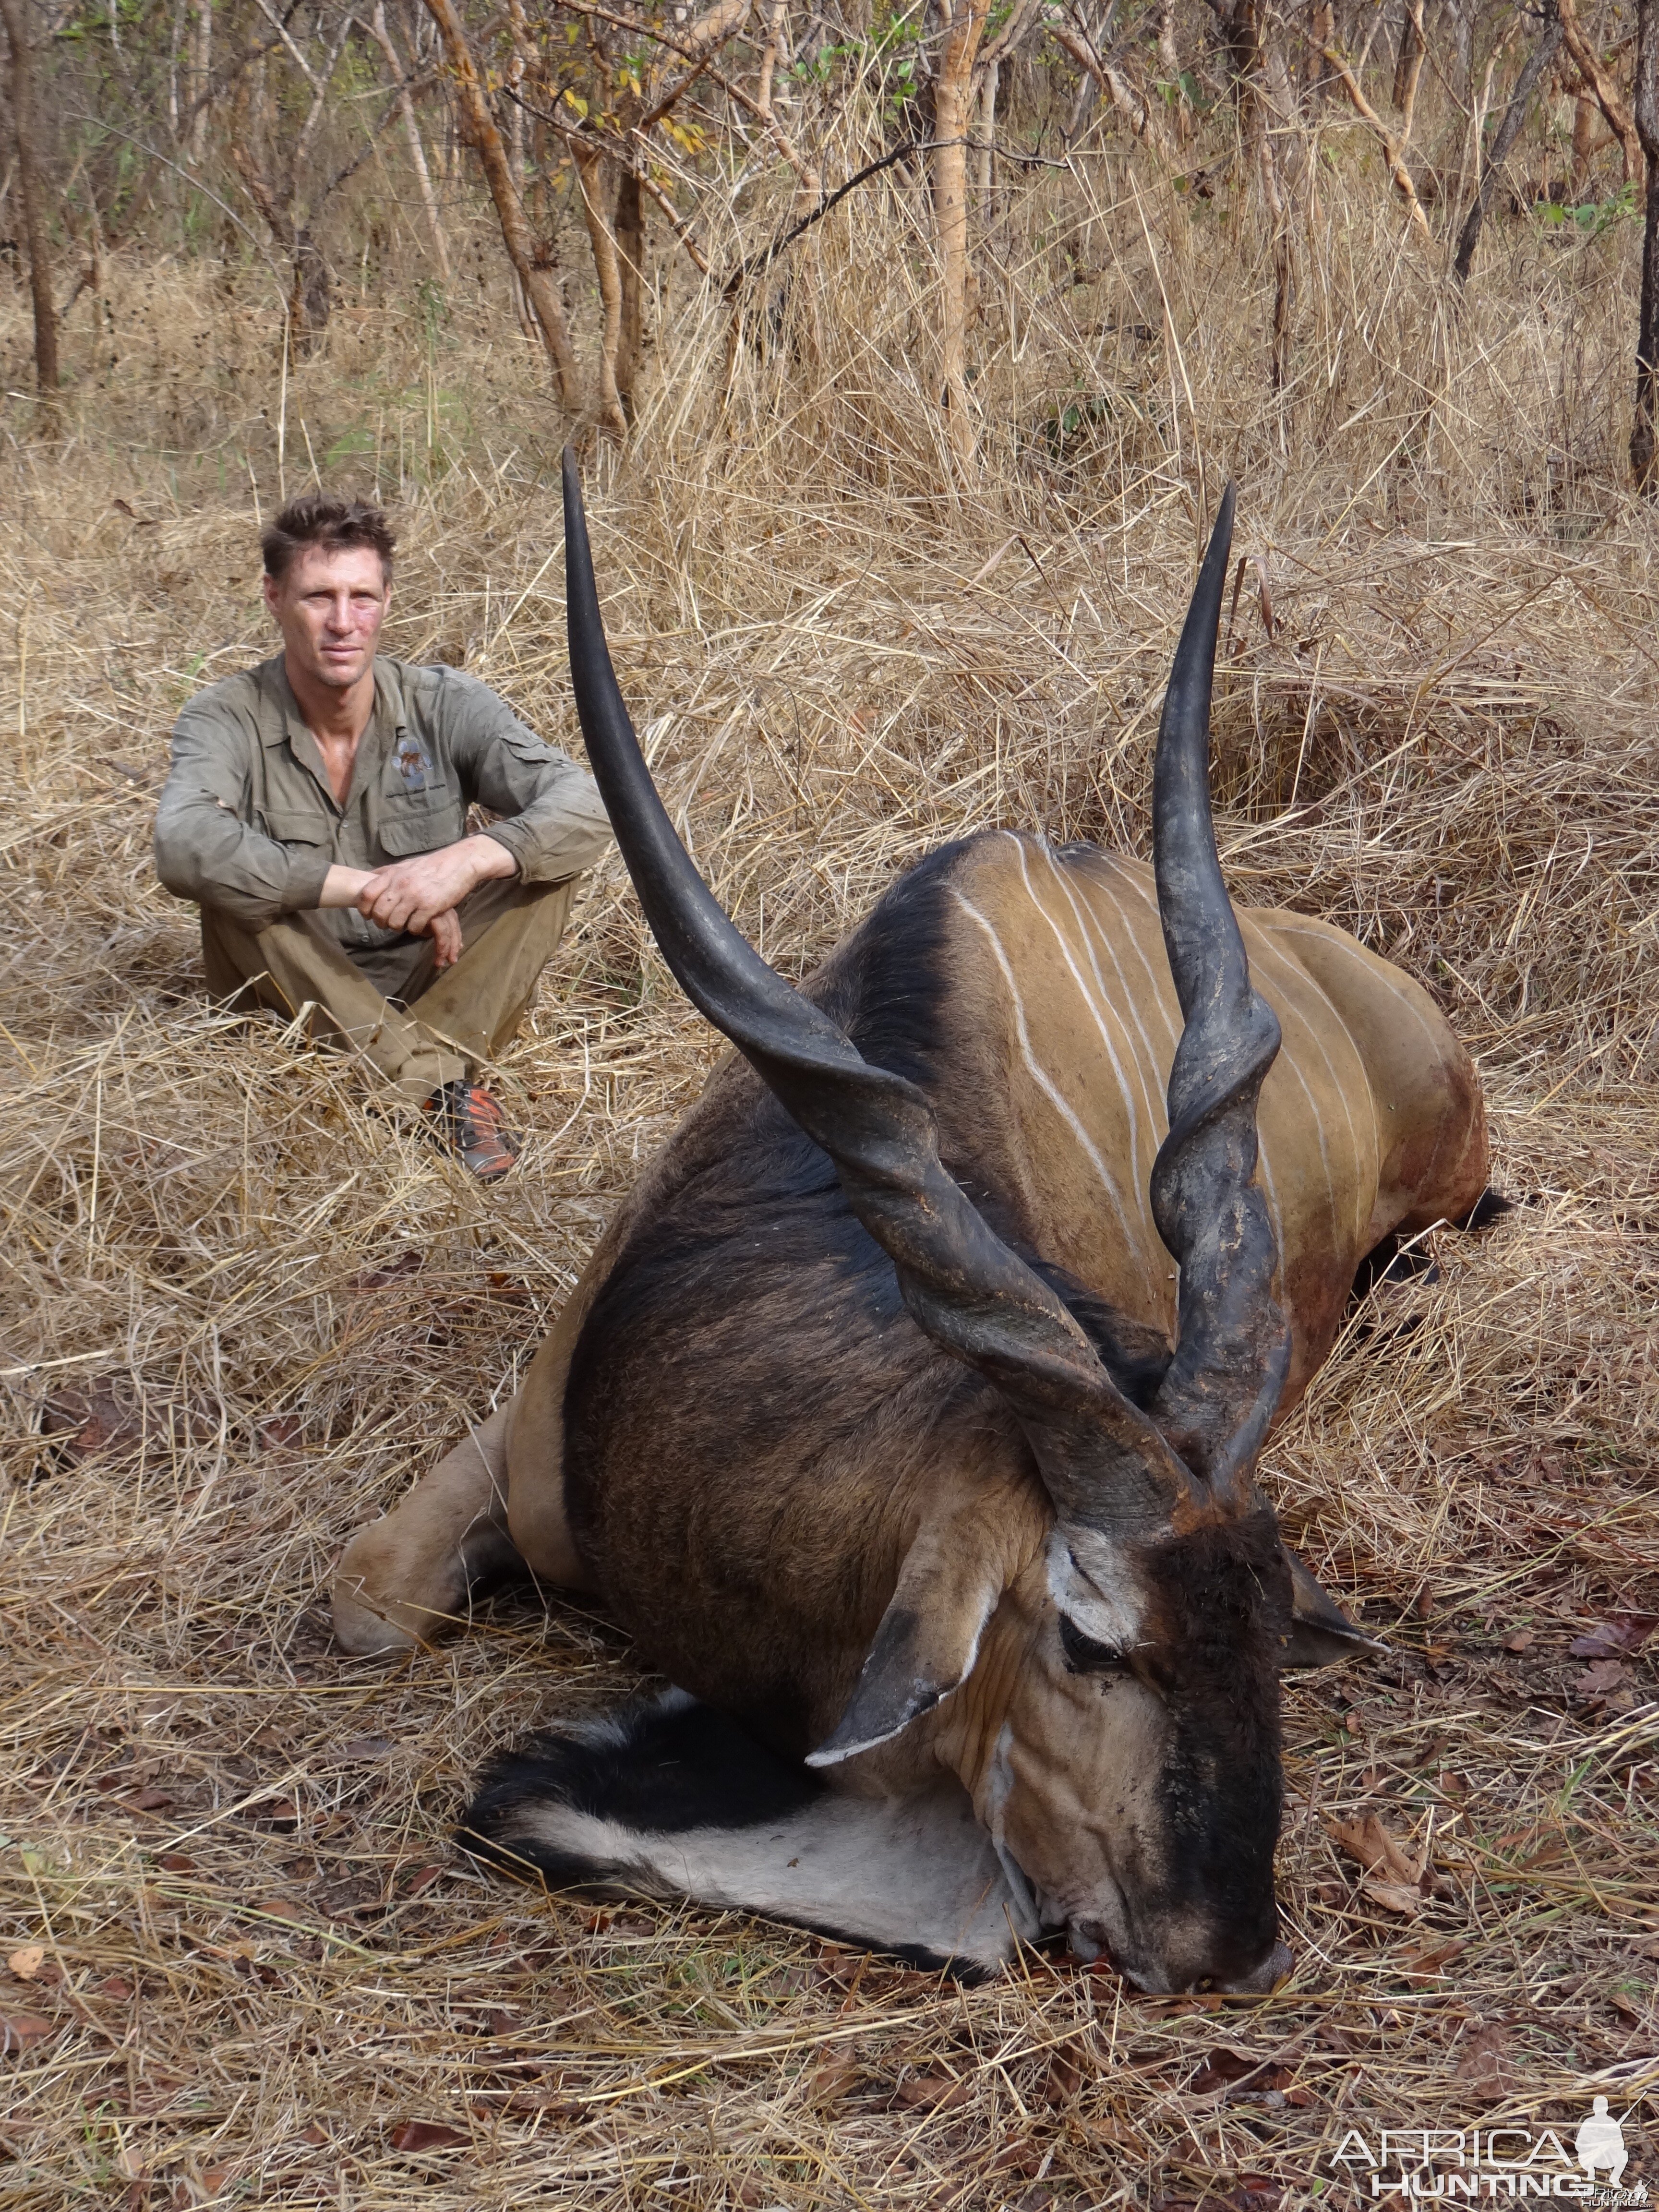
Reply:
<svg viewBox="0 0 1659 2212"><path fill-rule="evenodd" d="M223 907L252 929L323 896L330 854L281 845L243 821L252 812L241 734L219 714L186 708L173 730L173 768L155 812L155 872L168 891Z"/></svg>

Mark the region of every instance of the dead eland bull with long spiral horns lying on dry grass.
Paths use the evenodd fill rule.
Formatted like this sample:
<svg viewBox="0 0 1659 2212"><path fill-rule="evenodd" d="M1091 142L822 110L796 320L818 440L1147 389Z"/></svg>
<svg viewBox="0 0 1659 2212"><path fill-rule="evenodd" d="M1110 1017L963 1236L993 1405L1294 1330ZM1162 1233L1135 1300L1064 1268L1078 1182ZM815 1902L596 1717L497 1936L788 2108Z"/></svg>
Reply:
<svg viewBox="0 0 1659 2212"><path fill-rule="evenodd" d="M1141 1989L1267 1989L1279 1668L1365 1639L1256 1460L1365 1254L1478 1210L1486 1135L1413 982L1228 902L1232 491L1164 703L1152 869L967 838L801 991L657 799L568 460L564 522L593 772L664 958L743 1057L515 1402L356 1537L341 1637L416 1641L518 1566L595 1593L679 1686L487 1774L469 1849L557 1889L967 1971L1064 1929Z"/></svg>

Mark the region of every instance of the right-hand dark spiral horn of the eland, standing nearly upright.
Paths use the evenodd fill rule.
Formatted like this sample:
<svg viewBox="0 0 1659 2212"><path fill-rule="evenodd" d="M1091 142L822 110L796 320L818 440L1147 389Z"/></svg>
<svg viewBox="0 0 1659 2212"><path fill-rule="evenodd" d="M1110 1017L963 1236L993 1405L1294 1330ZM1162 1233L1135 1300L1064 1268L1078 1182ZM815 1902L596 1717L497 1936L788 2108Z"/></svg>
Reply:
<svg viewBox="0 0 1659 2212"><path fill-rule="evenodd" d="M1157 732L1152 860L1186 1029L1170 1068L1170 1135L1152 1164L1152 1219L1181 1267L1179 1338L1152 1413L1214 1491L1248 1482L1290 1365L1274 1303L1267 1201L1254 1186L1256 1102L1279 1020L1252 989L1210 818L1210 686L1234 487L1221 498Z"/></svg>

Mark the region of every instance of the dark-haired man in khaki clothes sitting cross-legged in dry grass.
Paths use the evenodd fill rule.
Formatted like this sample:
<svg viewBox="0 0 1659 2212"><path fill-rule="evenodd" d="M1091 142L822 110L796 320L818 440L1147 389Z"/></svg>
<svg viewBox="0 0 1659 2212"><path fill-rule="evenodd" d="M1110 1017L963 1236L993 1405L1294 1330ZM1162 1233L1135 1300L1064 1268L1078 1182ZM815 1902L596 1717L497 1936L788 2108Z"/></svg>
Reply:
<svg viewBox="0 0 1659 2212"><path fill-rule="evenodd" d="M473 1082L518 1031L611 825L593 779L453 668L376 657L378 507L292 500L265 531L283 650L173 732L155 865L201 905L215 998L294 1015L431 1117L480 1177L518 1139ZM495 821L467 834L467 807Z"/></svg>

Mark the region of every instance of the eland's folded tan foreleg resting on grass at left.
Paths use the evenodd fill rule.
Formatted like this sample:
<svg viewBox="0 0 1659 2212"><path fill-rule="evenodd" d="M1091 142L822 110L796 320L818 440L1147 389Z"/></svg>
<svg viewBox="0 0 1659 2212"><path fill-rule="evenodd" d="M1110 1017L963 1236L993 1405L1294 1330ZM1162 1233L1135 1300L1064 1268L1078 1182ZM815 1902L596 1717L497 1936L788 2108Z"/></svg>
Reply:
<svg viewBox="0 0 1659 2212"><path fill-rule="evenodd" d="M507 1533L504 1405L462 1438L334 1571L334 1635L349 1652L434 1644L467 1617L473 1584L522 1568Z"/></svg>

